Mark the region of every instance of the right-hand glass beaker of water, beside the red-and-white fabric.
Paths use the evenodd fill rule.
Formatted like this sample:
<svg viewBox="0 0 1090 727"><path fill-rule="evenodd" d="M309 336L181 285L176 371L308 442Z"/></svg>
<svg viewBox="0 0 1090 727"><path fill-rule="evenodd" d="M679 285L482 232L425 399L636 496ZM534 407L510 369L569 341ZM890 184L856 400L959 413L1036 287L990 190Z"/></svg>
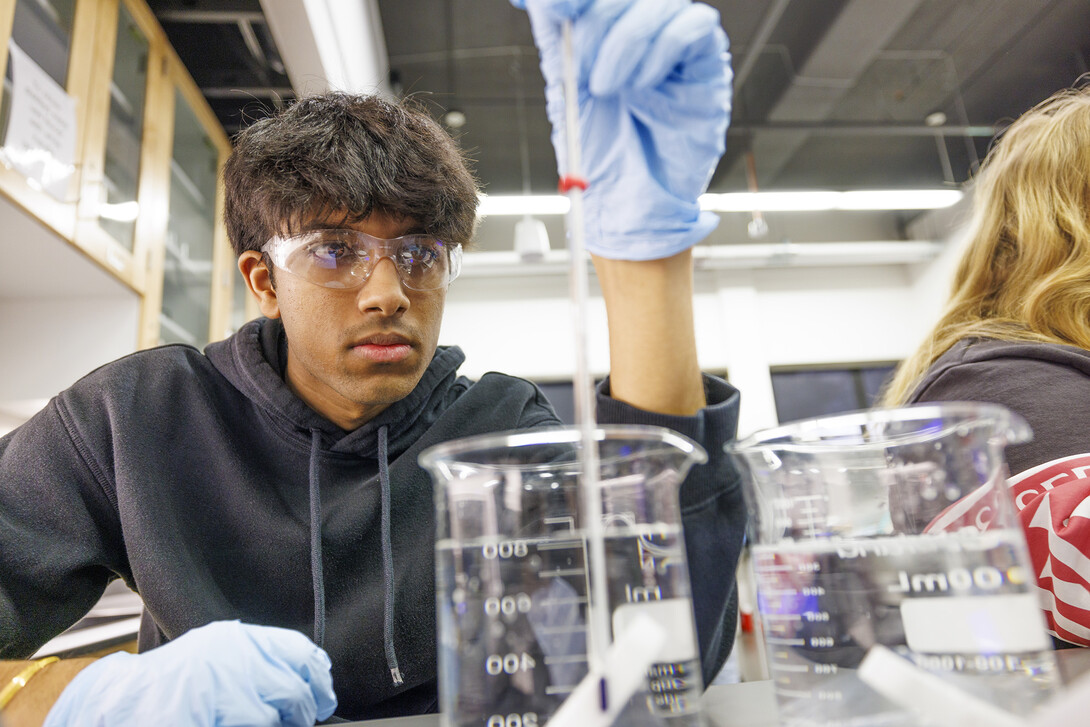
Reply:
<svg viewBox="0 0 1090 727"><path fill-rule="evenodd" d="M876 645L1016 715L1054 693L1003 455L1030 436L1002 407L955 402L807 420L726 447L743 473L780 724L931 724L859 678Z"/></svg>

